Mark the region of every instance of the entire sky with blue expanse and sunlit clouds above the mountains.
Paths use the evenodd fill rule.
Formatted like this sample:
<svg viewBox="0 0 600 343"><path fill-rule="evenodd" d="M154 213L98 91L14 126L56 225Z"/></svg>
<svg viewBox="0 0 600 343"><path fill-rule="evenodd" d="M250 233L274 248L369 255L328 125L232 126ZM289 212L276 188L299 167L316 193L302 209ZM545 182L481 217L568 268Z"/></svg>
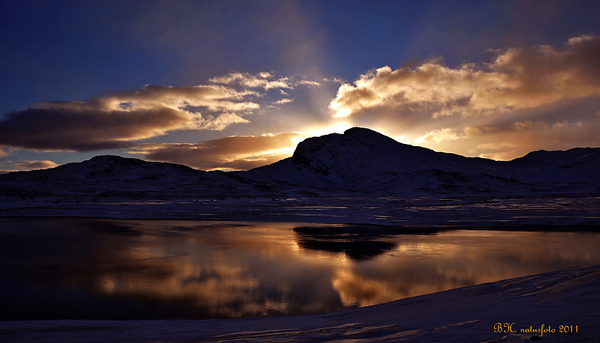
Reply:
<svg viewBox="0 0 600 343"><path fill-rule="evenodd" d="M2 1L0 171L239 170L362 126L511 160L600 146L600 1Z"/></svg>

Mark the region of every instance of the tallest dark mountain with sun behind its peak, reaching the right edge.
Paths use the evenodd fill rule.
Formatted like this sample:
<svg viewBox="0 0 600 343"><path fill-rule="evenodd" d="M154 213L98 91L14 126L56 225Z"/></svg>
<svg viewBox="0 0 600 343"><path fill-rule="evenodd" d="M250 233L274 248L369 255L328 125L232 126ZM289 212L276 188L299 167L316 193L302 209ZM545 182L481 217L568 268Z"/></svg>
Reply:
<svg viewBox="0 0 600 343"><path fill-rule="evenodd" d="M600 189L600 148L538 151L504 162L399 143L368 128L308 138L294 155L237 172L265 183L367 193L490 193Z"/></svg>

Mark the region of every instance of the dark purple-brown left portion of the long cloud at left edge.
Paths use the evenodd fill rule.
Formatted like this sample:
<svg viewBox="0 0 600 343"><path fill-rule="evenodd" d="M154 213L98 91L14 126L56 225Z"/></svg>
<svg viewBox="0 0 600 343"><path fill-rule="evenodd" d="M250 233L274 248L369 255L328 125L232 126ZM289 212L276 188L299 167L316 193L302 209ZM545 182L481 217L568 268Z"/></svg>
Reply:
<svg viewBox="0 0 600 343"><path fill-rule="evenodd" d="M73 108L68 108L73 107ZM32 150L127 148L131 140L160 136L192 120L169 107L137 110L31 108L0 122L0 144Z"/></svg>

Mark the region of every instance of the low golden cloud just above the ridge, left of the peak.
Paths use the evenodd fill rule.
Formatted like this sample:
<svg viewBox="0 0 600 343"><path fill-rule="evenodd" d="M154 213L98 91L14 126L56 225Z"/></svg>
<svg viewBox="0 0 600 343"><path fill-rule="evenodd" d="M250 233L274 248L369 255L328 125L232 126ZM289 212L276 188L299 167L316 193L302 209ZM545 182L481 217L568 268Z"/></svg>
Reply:
<svg viewBox="0 0 600 343"><path fill-rule="evenodd" d="M202 170L251 169L292 155L300 133L232 136L196 144L145 144L146 160L186 164Z"/></svg>

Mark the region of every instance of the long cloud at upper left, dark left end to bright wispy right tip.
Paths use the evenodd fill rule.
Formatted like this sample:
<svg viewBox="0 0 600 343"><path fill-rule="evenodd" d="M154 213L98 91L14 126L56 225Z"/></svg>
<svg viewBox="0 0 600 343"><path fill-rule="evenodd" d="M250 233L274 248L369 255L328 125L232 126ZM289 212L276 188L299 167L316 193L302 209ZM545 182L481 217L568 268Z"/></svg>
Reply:
<svg viewBox="0 0 600 343"><path fill-rule="evenodd" d="M275 78L271 73L232 73L215 78L213 83L237 84L145 85L140 90L85 101L40 102L5 115L0 121L0 145L91 151L129 148L136 140L170 131L223 130L232 124L249 123L244 117L265 104L273 109L292 101L279 93L277 100L262 99L265 90L313 85L311 81Z"/></svg>

